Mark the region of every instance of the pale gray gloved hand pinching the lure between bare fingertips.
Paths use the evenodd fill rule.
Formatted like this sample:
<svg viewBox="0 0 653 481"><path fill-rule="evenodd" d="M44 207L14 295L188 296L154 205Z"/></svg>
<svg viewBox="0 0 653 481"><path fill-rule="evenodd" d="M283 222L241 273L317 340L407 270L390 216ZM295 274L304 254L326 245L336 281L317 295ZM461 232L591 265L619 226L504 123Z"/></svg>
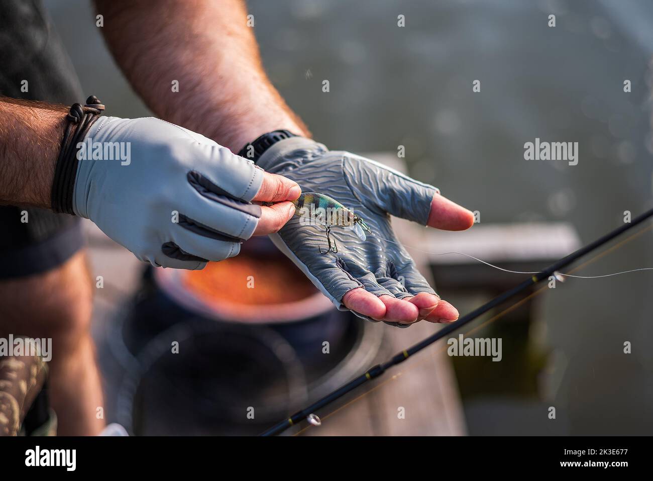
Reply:
<svg viewBox="0 0 653 481"><path fill-rule="evenodd" d="M93 147L80 159L74 212L157 267L202 269L236 256L242 240L278 230L295 212L295 182L163 120L101 117L84 142L125 158L92 159Z"/></svg>

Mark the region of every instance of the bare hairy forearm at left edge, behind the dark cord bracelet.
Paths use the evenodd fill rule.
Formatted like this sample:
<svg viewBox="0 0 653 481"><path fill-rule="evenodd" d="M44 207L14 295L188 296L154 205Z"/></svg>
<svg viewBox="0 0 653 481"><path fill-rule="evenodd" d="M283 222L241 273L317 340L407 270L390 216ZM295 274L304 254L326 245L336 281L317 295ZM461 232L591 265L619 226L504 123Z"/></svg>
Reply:
<svg viewBox="0 0 653 481"><path fill-rule="evenodd" d="M67 108L0 98L0 204L50 208Z"/></svg>

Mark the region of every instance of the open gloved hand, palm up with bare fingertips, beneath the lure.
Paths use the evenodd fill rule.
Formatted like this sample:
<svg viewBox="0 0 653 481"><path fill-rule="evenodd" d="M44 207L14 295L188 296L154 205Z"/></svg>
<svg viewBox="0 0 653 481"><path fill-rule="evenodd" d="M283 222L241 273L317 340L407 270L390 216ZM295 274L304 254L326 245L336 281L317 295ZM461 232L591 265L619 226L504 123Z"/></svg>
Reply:
<svg viewBox="0 0 653 481"><path fill-rule="evenodd" d="M325 228L306 225L298 216L270 235L336 307L398 327L421 319L451 322L458 318L456 309L441 301L417 271L392 231L389 214L459 230L473 224L469 210L441 197L433 186L370 159L331 152L304 137L277 142L257 165L295 180L304 192L332 197L370 227L366 240L351 229L332 227L330 236L338 252L327 254L319 251L327 248Z"/></svg>

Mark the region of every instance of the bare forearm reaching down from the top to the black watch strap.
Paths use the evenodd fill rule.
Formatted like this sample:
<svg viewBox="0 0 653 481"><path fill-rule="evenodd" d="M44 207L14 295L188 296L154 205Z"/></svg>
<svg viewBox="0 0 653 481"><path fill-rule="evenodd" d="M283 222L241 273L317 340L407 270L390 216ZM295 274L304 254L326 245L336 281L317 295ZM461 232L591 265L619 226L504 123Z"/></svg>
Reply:
<svg viewBox="0 0 653 481"><path fill-rule="evenodd" d="M116 61L157 116L235 152L275 129L309 135L263 71L243 1L95 3Z"/></svg>

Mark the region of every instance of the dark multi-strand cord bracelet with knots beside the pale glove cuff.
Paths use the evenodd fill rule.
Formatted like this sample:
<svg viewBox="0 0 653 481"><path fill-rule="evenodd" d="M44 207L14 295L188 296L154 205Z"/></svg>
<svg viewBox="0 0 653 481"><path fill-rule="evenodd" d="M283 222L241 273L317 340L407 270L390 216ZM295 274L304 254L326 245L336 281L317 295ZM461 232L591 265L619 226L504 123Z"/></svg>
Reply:
<svg viewBox="0 0 653 481"><path fill-rule="evenodd" d="M72 209L72 195L79 162L77 144L84 140L91 125L101 116L103 110L104 105L95 95L91 95L86 99L84 107L79 103L74 103L66 116L68 122L63 139L61 139L61 149L54 169L52 193L50 194L50 203L54 212L75 214Z"/></svg>

